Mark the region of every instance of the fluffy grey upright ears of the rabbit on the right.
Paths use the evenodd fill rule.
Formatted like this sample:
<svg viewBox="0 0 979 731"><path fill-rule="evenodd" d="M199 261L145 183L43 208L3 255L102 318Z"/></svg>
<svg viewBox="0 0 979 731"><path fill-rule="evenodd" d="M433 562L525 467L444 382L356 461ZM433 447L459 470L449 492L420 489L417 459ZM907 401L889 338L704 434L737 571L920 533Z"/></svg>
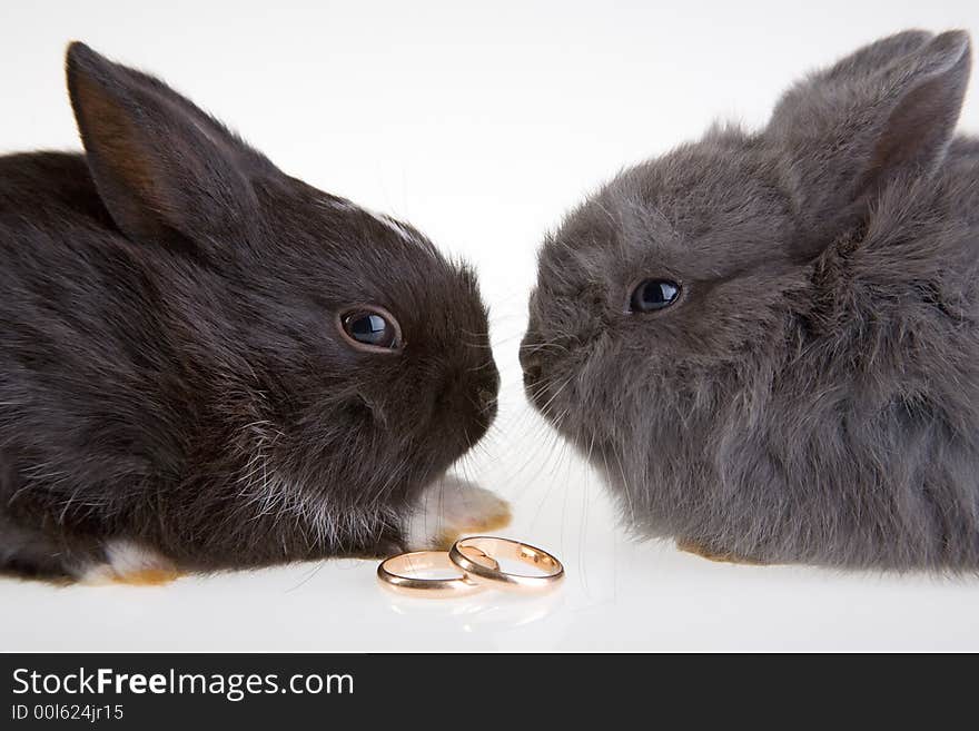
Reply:
<svg viewBox="0 0 979 731"><path fill-rule="evenodd" d="M933 172L955 134L969 81L969 34L908 31L815 73L780 100L765 129L787 157L812 256L866 216L890 182Z"/></svg>

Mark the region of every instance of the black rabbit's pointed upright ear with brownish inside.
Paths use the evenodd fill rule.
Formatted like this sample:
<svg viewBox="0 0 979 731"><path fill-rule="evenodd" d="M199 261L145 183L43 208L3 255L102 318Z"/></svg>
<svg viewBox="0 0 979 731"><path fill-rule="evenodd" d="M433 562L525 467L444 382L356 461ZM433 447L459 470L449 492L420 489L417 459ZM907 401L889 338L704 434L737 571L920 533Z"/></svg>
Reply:
<svg viewBox="0 0 979 731"><path fill-rule="evenodd" d="M127 236L185 246L243 234L265 158L161 81L82 43L68 48L67 71L92 178Z"/></svg>

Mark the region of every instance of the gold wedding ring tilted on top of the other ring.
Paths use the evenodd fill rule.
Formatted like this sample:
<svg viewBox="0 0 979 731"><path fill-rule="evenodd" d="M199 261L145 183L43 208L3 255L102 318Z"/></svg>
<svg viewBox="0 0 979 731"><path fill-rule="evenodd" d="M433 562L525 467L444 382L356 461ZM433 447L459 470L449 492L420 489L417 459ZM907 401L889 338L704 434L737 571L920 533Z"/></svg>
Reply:
<svg viewBox="0 0 979 731"><path fill-rule="evenodd" d="M511 559L528 564L542 571L538 575L512 574L501 571L500 564L474 561L471 557L473 549L486 556L494 559ZM478 554L476 554L478 555ZM554 587L564 579L564 566L546 551L535 549L520 541L500 539L496 536L479 535L469 539L459 539L448 551L448 557L453 564L463 571L463 574L472 582L492 585L496 589L510 589L515 591L546 591ZM494 563L496 563L494 561Z"/></svg>

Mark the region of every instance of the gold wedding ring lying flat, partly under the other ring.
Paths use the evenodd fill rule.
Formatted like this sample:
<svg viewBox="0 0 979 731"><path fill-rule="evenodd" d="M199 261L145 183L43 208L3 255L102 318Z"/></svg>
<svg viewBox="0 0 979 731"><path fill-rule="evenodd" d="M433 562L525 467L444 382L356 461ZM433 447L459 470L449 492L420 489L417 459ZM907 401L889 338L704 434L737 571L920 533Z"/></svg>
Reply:
<svg viewBox="0 0 979 731"><path fill-rule="evenodd" d="M500 564L479 549L464 551L463 557L473 565L500 570ZM461 575L452 579L427 579L418 575L425 571L451 571ZM377 566L377 579L386 589L412 596L463 596L485 589L449 561L445 551L415 551L386 559Z"/></svg>

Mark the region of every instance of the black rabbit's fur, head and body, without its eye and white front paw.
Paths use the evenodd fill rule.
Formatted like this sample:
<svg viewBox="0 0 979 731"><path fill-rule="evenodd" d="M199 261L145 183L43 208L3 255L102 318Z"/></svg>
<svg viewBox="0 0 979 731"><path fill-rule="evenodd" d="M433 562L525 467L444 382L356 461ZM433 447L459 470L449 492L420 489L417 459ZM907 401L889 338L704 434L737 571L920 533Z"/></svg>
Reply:
<svg viewBox="0 0 979 731"><path fill-rule="evenodd" d="M0 158L0 567L403 547L495 415L472 271L151 77L80 45L68 76L86 156ZM400 348L340 332L365 305Z"/></svg>

